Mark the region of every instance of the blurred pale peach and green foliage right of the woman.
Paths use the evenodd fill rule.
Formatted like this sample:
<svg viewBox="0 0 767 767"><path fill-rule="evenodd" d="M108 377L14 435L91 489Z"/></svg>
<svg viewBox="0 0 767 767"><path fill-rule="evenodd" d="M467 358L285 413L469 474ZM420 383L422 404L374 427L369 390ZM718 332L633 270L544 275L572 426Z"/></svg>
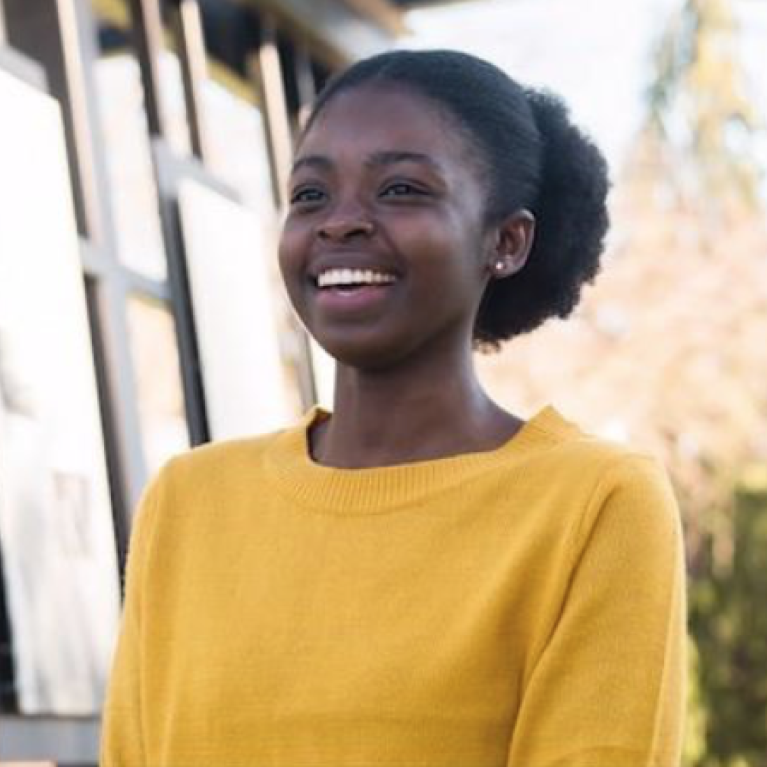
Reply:
<svg viewBox="0 0 767 767"><path fill-rule="evenodd" d="M767 627L754 622L767 593L767 216L738 38L729 0L686 0L673 15L602 275L574 318L479 360L508 407L553 400L667 463L703 706L686 759L706 767L762 767L767 754Z"/></svg>

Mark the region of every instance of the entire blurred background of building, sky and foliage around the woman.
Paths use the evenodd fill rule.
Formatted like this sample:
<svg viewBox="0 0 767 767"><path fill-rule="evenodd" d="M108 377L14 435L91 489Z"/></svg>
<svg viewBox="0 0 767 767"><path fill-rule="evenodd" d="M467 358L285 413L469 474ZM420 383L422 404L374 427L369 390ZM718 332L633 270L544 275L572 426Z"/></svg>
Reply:
<svg viewBox="0 0 767 767"><path fill-rule="evenodd" d="M558 92L606 153L602 275L478 365L665 461L686 767L767 765L765 0L0 0L0 759L96 764L153 472L330 407L275 265L291 140L397 47Z"/></svg>

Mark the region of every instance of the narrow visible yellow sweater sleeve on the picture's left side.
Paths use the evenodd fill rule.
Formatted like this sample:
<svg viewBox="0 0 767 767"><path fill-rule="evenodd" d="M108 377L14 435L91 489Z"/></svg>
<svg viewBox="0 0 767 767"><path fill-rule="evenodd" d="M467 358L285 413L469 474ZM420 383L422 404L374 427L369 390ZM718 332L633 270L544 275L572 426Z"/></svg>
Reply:
<svg viewBox="0 0 767 767"><path fill-rule="evenodd" d="M141 599L157 485L143 494L133 519L125 600L101 725L100 767L146 765L141 710Z"/></svg>

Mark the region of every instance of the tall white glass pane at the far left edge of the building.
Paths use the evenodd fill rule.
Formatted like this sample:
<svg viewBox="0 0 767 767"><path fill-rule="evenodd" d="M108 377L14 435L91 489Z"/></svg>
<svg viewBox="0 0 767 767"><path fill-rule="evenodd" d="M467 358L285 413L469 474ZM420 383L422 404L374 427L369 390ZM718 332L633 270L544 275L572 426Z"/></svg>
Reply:
<svg viewBox="0 0 767 767"><path fill-rule="evenodd" d="M0 104L0 547L18 708L93 716L120 594L61 110L2 71Z"/></svg>

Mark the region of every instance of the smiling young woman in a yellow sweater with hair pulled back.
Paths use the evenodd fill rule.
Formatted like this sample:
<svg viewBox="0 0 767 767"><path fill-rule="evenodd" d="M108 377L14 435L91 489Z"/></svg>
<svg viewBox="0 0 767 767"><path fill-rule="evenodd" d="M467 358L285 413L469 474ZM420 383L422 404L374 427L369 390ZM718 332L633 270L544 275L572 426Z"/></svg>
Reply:
<svg viewBox="0 0 767 767"><path fill-rule="evenodd" d="M334 410L147 490L104 767L674 767L663 469L506 413L472 365L596 274L601 155L554 97L400 51L329 84L290 184L280 264Z"/></svg>

